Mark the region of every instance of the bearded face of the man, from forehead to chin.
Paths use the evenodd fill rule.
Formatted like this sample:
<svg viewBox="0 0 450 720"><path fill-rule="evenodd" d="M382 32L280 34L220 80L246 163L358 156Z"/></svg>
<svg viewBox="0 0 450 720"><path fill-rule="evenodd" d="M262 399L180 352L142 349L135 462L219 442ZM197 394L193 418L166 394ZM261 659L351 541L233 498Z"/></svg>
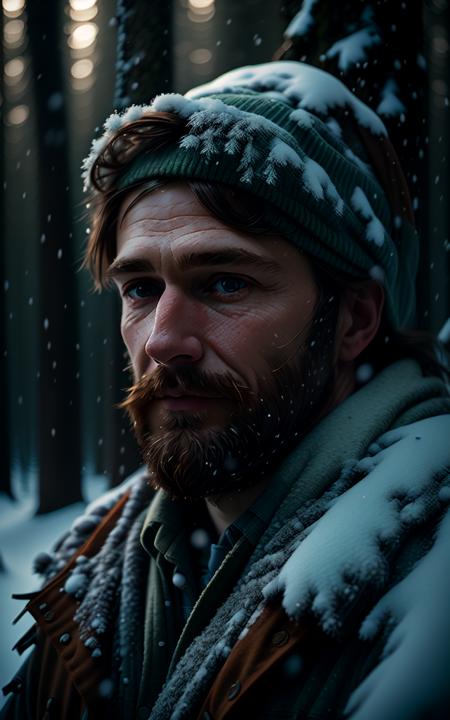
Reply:
<svg viewBox="0 0 450 720"><path fill-rule="evenodd" d="M236 456L248 456L249 445L259 455L276 444L276 430L286 429L281 415L294 414L292 396L301 404L301 360L318 291L309 261L292 245L230 229L183 183L128 209L132 200L122 207L109 270L137 384L129 410L151 468L177 475L177 489L170 473L157 483L173 494L213 493L227 485L224 474L242 474ZM246 448L234 437L221 454L215 443L230 428ZM205 465L210 477L195 490ZM188 489L183 473L193 475Z"/></svg>

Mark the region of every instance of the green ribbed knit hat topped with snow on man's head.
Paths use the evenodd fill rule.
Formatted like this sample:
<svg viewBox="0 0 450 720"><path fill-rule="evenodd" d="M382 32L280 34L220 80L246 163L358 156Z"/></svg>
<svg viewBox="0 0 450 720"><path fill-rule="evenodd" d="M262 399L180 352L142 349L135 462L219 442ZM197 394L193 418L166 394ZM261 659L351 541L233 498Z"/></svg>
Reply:
<svg viewBox="0 0 450 720"><path fill-rule="evenodd" d="M116 132L152 112L179 116L182 137L138 149L119 176L97 171L101 191L152 177L245 189L268 201L268 219L297 247L356 279L382 281L394 327L411 322L418 239L406 182L382 121L337 78L270 62L114 113L83 163L86 189Z"/></svg>

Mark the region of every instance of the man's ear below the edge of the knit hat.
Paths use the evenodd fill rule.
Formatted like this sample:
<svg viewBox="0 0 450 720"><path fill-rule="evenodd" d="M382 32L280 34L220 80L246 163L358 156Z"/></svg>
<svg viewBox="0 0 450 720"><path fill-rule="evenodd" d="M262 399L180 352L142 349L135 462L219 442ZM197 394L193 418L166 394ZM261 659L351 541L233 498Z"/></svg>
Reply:
<svg viewBox="0 0 450 720"><path fill-rule="evenodd" d="M337 362L352 362L372 342L383 305L384 290L375 281L344 290L336 331Z"/></svg>

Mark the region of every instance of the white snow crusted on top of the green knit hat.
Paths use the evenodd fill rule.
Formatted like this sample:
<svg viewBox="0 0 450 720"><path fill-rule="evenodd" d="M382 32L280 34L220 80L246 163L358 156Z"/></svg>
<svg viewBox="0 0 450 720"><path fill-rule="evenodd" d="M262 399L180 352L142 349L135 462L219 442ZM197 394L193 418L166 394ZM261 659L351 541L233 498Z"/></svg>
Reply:
<svg viewBox="0 0 450 720"><path fill-rule="evenodd" d="M294 148L286 148L286 145L291 145L292 139L279 125L261 115L241 111L218 98L206 96L230 90L245 92L247 89L256 90L267 99L275 95L277 99L289 104L293 108L290 119L305 130L314 127L316 121L313 113L330 120L330 111L340 108L350 110L359 123L369 127L374 133L385 134L379 118L345 85L328 73L296 62L266 63L226 73L207 85L194 88L185 96L177 93L159 95L152 105L132 105L120 114L113 113L104 124L104 134L93 141L91 151L83 161L85 190L89 188L90 173L96 159L114 134L127 123L155 111L172 112L186 120L188 132L180 142L182 149L198 151L206 159L211 159L222 151L223 141L227 154L239 153L239 177L244 183L253 181L256 166L261 159L261 152L258 154L255 143L255 136L259 133L267 132L268 136L275 138L277 145L272 146L269 156L265 158L265 167L262 168L262 177L269 185L277 182L277 167L289 164L300 169L304 157L300 157ZM359 167L367 173L367 167L363 163L359 163ZM314 178L310 177L312 168L312 165L307 166L303 177L306 189L316 197L325 196L332 200L338 214L341 214L341 201L336 197L336 191L329 180L326 181L325 189L325 171L322 171L321 179ZM315 175L317 176L317 172ZM322 186L322 191L319 190L319 185Z"/></svg>

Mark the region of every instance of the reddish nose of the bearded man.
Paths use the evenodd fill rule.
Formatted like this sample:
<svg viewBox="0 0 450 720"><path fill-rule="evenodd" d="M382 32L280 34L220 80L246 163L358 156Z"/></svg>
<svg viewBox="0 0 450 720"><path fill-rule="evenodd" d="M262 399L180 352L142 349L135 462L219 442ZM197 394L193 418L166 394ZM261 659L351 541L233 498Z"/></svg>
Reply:
<svg viewBox="0 0 450 720"><path fill-rule="evenodd" d="M157 364L191 364L203 357L202 327L195 300L166 286L155 310L146 355Z"/></svg>

